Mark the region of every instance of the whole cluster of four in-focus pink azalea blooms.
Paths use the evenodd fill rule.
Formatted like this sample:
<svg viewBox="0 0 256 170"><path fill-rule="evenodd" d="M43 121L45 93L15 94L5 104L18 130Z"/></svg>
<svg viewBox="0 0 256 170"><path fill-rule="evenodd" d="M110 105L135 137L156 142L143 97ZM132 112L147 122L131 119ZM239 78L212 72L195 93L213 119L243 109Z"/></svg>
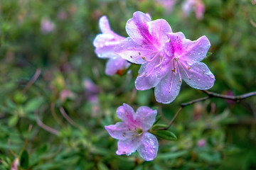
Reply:
<svg viewBox="0 0 256 170"><path fill-rule="evenodd" d="M137 90L155 88L159 103L171 103L181 89L182 80L195 89L210 89L215 81L213 73L201 62L207 55L210 42L206 36L191 41L183 33L173 33L164 19L151 21L149 14L137 11L127 21L128 38L110 29L106 16L100 18L102 34L93 45L98 57L110 58L106 74L113 75L126 69L129 62L141 64L135 81ZM143 106L134 113L124 104L117 109L123 121L106 126L112 137L119 140L117 154L131 154L136 150L146 161L156 157L158 142L147 132L153 125L156 111Z"/></svg>

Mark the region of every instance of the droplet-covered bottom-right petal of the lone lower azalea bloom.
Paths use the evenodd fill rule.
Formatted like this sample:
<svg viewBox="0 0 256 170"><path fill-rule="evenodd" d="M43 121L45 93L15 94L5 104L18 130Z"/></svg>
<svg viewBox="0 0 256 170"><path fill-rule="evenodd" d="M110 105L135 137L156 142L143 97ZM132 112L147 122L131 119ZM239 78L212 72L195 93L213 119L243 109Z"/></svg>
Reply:
<svg viewBox="0 0 256 170"><path fill-rule="evenodd" d="M144 132L137 149L139 155L145 161L151 161L156 157L158 148L159 142L157 141L157 138L149 132Z"/></svg>

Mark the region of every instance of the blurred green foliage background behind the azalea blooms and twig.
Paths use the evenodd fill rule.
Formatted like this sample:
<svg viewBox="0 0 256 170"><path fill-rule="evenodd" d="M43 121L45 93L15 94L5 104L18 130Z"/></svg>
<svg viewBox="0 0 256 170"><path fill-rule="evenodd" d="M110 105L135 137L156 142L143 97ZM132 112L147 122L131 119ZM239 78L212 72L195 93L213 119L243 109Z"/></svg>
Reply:
<svg viewBox="0 0 256 170"><path fill-rule="evenodd" d="M256 91L256 5L203 0L198 21L194 11L184 16L183 3L170 11L153 0L0 1L0 169L256 169L256 97L184 108L171 126L178 140L159 139L152 162L137 152L115 154L117 140L104 125L120 121L115 112L122 103L155 108L168 124L181 103L205 94L183 83L176 100L164 105L154 89L134 88L139 66L107 77L106 61L92 45L102 15L124 37L135 11L164 18L188 39L206 35L213 55L203 62L216 79L210 91Z"/></svg>

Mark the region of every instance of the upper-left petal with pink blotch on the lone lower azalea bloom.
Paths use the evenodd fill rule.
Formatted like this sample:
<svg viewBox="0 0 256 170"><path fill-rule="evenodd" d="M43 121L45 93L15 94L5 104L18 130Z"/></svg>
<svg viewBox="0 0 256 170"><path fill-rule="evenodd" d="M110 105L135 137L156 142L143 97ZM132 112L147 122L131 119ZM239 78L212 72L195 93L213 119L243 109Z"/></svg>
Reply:
<svg viewBox="0 0 256 170"><path fill-rule="evenodd" d="M129 128L137 127L137 123L134 120L135 112L133 108L126 103L117 108L117 117L121 119L127 126L129 126Z"/></svg>

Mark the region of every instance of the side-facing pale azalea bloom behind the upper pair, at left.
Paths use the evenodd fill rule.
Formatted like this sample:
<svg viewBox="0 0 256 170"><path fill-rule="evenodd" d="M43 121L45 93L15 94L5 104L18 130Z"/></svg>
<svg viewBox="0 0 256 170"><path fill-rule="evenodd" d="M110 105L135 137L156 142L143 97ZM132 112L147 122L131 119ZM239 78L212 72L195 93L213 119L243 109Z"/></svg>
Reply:
<svg viewBox="0 0 256 170"><path fill-rule="evenodd" d="M117 35L111 30L107 16L102 16L100 18L99 26L102 33L97 35L95 40L93 40L93 45L96 47L95 53L97 54L97 57L110 59L107 62L105 73L112 76L129 67L129 62L114 53L114 46L119 44L119 42L125 38Z"/></svg>

